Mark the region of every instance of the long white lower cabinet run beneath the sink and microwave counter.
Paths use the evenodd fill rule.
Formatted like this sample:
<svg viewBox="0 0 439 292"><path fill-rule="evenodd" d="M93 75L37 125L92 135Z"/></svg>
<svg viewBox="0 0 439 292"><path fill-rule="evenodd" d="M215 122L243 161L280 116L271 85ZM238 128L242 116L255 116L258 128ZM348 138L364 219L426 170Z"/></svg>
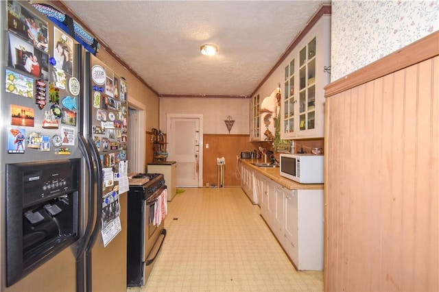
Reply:
<svg viewBox="0 0 439 292"><path fill-rule="evenodd" d="M291 190L244 164L241 187L298 270L323 269L323 190Z"/></svg>

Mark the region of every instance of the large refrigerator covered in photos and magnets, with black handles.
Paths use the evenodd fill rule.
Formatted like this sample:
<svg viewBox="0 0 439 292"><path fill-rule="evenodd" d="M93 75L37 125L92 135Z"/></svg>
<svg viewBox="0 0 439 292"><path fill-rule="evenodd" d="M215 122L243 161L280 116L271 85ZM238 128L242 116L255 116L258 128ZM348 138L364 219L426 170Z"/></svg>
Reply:
<svg viewBox="0 0 439 292"><path fill-rule="evenodd" d="M125 290L128 85L28 1L0 13L0 290Z"/></svg>

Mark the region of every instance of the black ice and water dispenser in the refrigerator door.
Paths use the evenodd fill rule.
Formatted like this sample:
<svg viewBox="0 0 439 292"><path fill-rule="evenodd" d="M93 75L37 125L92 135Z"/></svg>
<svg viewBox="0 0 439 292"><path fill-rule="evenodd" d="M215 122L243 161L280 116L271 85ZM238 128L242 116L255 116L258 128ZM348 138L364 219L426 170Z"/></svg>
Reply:
<svg viewBox="0 0 439 292"><path fill-rule="evenodd" d="M15 163L5 171L10 286L78 239L80 159Z"/></svg>

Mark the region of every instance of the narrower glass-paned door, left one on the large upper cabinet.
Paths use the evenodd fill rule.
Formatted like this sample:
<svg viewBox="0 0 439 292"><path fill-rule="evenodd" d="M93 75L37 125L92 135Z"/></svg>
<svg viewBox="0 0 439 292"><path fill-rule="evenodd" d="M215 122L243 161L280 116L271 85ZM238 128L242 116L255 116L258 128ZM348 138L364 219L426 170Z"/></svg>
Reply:
<svg viewBox="0 0 439 292"><path fill-rule="evenodd" d="M294 133L294 59L285 67L283 132Z"/></svg>

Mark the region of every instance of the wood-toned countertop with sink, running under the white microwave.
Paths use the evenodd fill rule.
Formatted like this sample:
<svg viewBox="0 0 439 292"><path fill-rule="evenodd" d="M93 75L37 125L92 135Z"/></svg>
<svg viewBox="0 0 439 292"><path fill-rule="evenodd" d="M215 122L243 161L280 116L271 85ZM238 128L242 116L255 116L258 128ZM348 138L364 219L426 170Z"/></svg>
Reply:
<svg viewBox="0 0 439 292"><path fill-rule="evenodd" d="M239 158L239 161L241 161L241 163L244 163L244 165L247 165L255 171L270 178L270 180L274 180L274 182L281 184L281 186L285 186L285 188L288 188L289 190L322 190L324 188L324 184L300 184L298 182L294 182L294 180L284 178L279 174L278 167L256 167L252 165L252 163L254 162L262 163L263 161L261 159Z"/></svg>

